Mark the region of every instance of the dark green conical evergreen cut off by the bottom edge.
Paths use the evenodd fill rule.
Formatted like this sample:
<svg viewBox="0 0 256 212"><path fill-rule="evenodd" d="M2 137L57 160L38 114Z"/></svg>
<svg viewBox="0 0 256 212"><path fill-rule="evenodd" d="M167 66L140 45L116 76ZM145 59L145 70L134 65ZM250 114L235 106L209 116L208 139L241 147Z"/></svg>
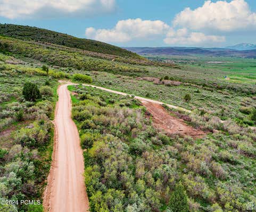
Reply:
<svg viewBox="0 0 256 212"><path fill-rule="evenodd" d="M181 183L179 183L174 192L171 193L168 208L173 212L189 212L187 195Z"/></svg>

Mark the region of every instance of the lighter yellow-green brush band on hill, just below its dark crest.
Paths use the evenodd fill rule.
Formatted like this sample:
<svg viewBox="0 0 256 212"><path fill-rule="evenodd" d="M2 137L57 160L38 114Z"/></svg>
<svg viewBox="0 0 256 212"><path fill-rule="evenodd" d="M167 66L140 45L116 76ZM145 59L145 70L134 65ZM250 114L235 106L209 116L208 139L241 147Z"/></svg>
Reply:
<svg viewBox="0 0 256 212"><path fill-rule="evenodd" d="M87 56L82 52L40 45L33 41L21 41L0 36L0 50L5 54L15 54L32 58L52 66L73 67L84 70L106 72L143 72L144 69L114 61Z"/></svg>

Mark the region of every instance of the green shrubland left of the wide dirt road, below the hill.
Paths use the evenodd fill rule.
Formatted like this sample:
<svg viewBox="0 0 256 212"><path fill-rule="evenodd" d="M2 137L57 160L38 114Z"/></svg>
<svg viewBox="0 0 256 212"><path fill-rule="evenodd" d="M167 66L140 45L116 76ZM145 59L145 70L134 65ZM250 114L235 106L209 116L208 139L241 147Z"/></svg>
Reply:
<svg viewBox="0 0 256 212"><path fill-rule="evenodd" d="M31 98L28 85L40 95ZM16 202L42 202L51 166L56 89L53 75L0 54L0 200L12 201L0 204L0 211L43 211L42 205Z"/></svg>

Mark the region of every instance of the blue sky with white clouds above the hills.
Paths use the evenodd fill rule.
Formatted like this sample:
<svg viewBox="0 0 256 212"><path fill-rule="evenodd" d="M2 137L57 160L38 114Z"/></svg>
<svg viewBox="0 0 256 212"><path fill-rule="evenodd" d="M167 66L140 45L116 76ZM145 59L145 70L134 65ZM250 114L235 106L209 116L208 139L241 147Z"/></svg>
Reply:
<svg viewBox="0 0 256 212"><path fill-rule="evenodd" d="M0 0L0 23L121 47L256 43L255 0Z"/></svg>

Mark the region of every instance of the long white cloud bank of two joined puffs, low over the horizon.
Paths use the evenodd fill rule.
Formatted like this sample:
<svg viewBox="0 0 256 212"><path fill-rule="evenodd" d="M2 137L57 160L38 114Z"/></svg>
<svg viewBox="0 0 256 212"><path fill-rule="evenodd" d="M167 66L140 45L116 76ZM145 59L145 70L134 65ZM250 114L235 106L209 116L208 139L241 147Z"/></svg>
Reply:
<svg viewBox="0 0 256 212"><path fill-rule="evenodd" d="M174 29L162 21L128 19L119 21L113 29L89 27L86 37L103 42L125 43L131 40L153 40L164 38L168 45L204 45L224 42L225 37L208 36L201 32L190 32L187 28Z"/></svg>

